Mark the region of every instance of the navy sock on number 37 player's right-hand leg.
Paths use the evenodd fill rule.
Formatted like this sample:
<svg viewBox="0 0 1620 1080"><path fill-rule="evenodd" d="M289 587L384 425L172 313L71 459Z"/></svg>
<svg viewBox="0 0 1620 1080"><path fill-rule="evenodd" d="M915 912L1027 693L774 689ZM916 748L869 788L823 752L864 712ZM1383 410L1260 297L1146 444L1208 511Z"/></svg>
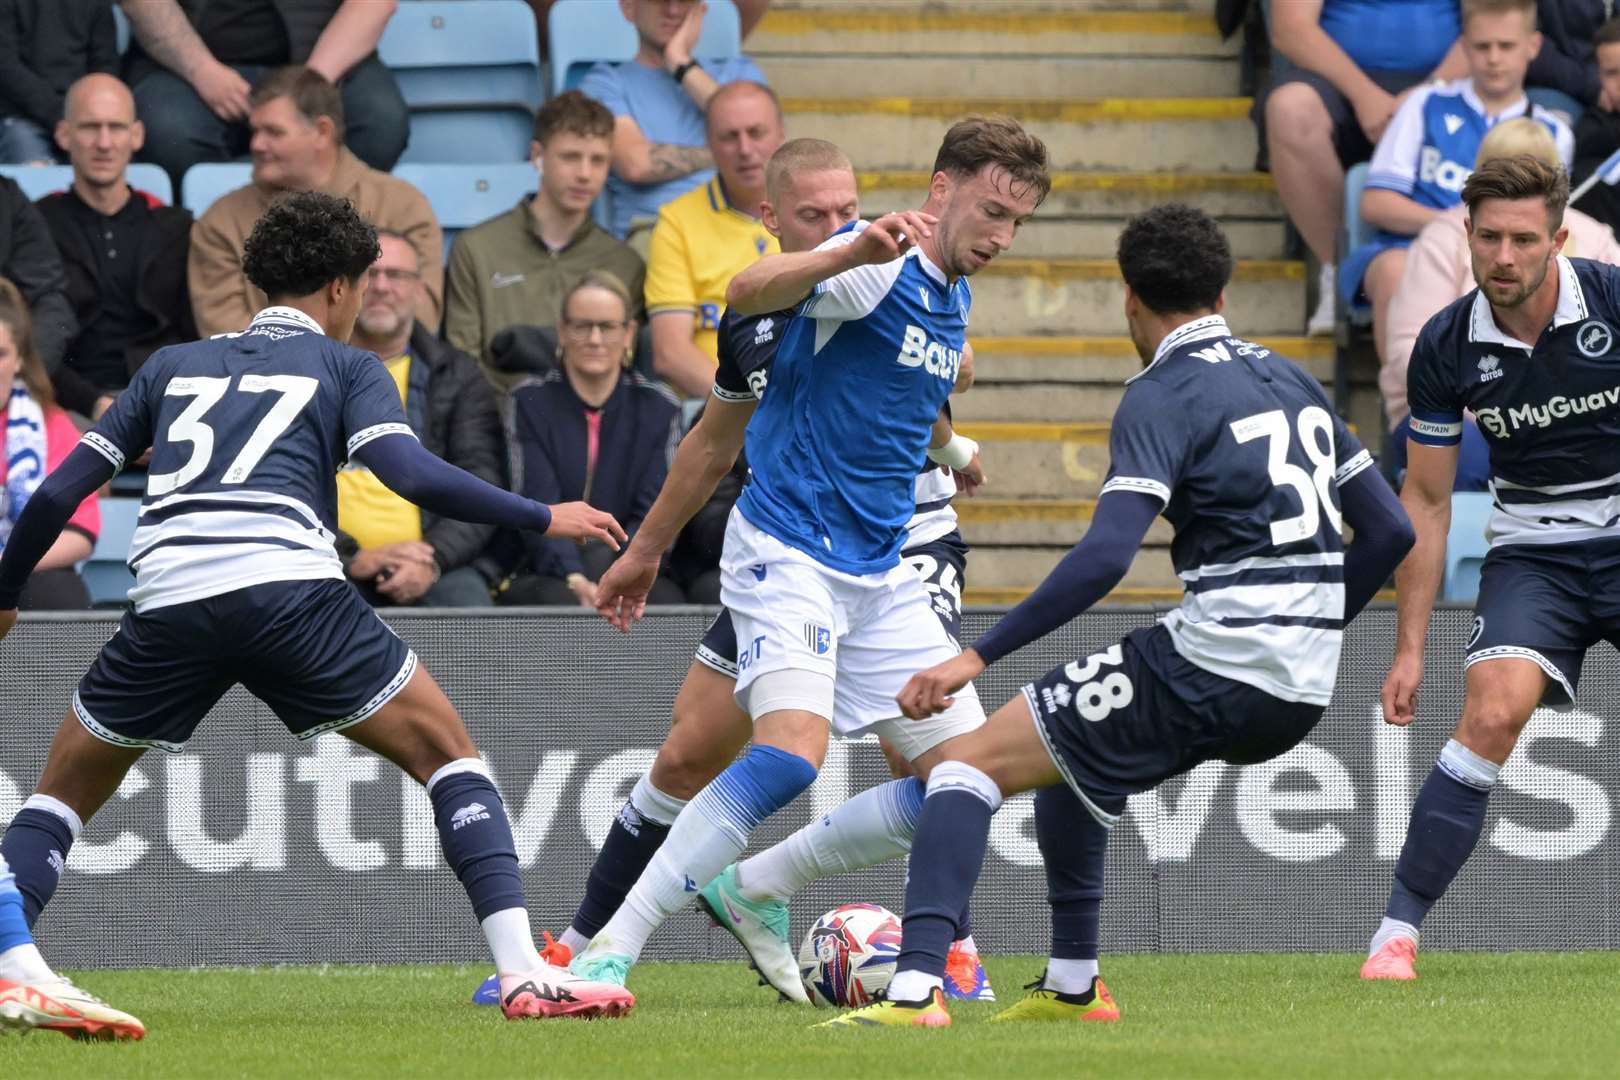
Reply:
<svg viewBox="0 0 1620 1080"><path fill-rule="evenodd" d="M444 766L428 780L428 798L444 861L467 889L478 921L523 907L512 824L484 763L463 758Z"/></svg>

